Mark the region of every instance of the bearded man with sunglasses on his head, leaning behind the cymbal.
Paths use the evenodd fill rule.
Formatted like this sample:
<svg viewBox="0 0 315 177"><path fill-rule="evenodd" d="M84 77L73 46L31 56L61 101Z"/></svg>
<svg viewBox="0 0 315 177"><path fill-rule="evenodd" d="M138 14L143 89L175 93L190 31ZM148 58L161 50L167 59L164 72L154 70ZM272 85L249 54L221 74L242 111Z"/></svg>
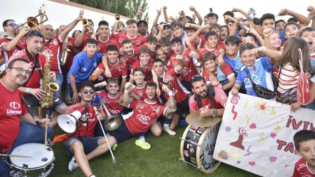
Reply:
<svg viewBox="0 0 315 177"><path fill-rule="evenodd" d="M200 75L191 78L192 92L189 98L190 113L200 111L200 117L223 116L227 96L224 91L216 86L209 86Z"/></svg>

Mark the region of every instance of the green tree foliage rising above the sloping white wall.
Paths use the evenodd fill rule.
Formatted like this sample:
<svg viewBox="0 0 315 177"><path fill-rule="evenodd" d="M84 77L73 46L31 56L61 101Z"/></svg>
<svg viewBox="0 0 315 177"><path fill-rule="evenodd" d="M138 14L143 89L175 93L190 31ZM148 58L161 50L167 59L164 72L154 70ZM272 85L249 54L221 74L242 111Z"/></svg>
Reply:
<svg viewBox="0 0 315 177"><path fill-rule="evenodd" d="M120 14L126 17L133 18L138 10L142 12L148 9L146 0L70 0L74 3L83 4L96 9L105 10L114 14ZM138 20L145 20L148 22L149 14L143 14L138 17Z"/></svg>

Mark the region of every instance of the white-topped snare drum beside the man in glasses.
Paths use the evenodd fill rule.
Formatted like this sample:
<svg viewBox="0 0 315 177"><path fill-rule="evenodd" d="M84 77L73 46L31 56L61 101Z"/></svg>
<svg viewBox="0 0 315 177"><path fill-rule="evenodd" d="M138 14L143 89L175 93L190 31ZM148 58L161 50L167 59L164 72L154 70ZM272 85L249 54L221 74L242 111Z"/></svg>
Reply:
<svg viewBox="0 0 315 177"><path fill-rule="evenodd" d="M11 155L32 156L9 157L10 176L48 176L54 168L54 151L51 147L38 143L29 143L16 147Z"/></svg>

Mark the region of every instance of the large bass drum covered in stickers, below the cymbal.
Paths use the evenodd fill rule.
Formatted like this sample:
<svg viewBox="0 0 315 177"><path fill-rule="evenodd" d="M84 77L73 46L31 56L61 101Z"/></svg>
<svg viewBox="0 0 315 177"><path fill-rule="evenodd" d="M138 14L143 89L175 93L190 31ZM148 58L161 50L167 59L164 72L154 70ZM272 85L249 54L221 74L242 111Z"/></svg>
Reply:
<svg viewBox="0 0 315 177"><path fill-rule="evenodd" d="M196 127L188 125L180 143L180 160L209 174L221 164L212 158L220 125Z"/></svg>

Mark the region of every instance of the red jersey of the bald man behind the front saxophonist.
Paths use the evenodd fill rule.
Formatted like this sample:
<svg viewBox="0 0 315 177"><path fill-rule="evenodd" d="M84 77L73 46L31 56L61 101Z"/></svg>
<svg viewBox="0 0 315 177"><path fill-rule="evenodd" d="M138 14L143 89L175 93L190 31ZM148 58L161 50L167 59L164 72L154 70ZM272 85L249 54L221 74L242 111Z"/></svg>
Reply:
<svg viewBox="0 0 315 177"><path fill-rule="evenodd" d="M59 61L59 47L63 44L60 39L60 35L53 37L49 40L44 40L43 51L50 56L50 71L55 73L61 73L60 61Z"/></svg>

